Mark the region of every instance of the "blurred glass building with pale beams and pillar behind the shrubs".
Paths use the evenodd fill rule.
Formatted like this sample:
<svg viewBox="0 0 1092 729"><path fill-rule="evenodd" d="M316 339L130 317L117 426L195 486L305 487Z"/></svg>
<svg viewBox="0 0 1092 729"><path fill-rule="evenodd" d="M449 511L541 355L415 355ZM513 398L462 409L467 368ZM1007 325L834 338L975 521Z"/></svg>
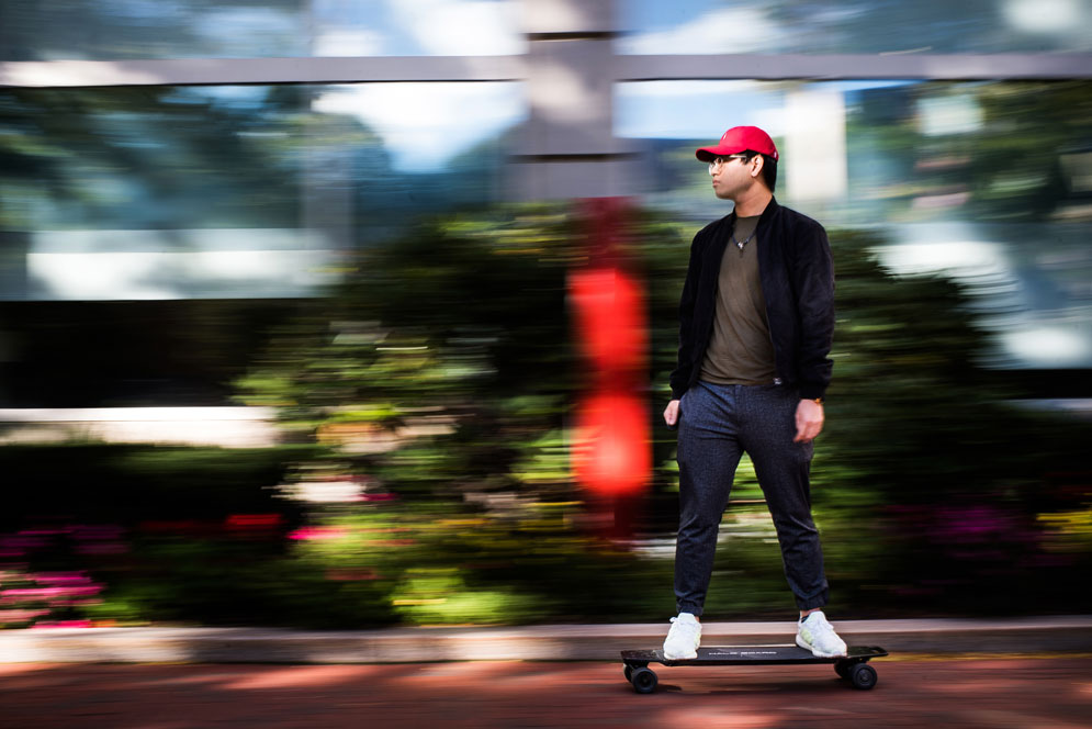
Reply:
<svg viewBox="0 0 1092 729"><path fill-rule="evenodd" d="M224 406L423 216L711 220L693 152L738 124L783 202L976 283L992 367L1090 397L1090 120L1089 0L0 0L0 422Z"/></svg>

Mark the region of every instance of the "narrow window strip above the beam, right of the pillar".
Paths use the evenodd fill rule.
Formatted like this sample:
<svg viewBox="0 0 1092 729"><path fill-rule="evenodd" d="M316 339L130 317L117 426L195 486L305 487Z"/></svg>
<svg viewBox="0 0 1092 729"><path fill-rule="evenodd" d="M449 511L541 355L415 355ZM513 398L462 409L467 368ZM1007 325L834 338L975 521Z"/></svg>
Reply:
<svg viewBox="0 0 1092 729"><path fill-rule="evenodd" d="M619 0L624 54L1092 51L1090 0Z"/></svg>

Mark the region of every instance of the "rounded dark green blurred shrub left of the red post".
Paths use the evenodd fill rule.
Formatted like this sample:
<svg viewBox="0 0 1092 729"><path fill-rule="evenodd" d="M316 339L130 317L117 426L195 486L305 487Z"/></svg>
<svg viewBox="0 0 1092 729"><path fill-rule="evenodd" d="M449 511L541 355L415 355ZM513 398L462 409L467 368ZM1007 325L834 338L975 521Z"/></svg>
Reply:
<svg viewBox="0 0 1092 729"><path fill-rule="evenodd" d="M578 385L565 284L585 255L560 206L423 223L278 332L239 400L395 494L567 493L551 434Z"/></svg>

